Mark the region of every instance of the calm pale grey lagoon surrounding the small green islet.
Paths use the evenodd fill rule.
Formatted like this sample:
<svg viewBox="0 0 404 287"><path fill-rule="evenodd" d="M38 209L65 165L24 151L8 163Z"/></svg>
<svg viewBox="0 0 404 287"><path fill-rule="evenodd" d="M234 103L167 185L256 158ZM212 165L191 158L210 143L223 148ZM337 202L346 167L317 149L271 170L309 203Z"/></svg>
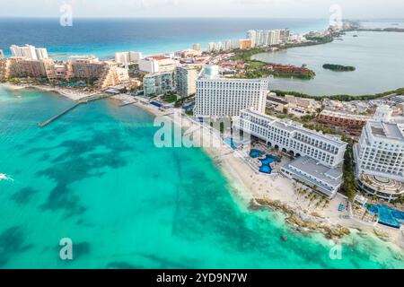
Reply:
<svg viewBox="0 0 404 287"><path fill-rule="evenodd" d="M358 37L353 37L358 35ZM404 87L404 33L347 32L343 40L264 53L254 59L279 64L307 65L317 74L312 80L271 78L271 90L300 91L312 95L373 94ZM324 64L352 65L354 72L333 72Z"/></svg>

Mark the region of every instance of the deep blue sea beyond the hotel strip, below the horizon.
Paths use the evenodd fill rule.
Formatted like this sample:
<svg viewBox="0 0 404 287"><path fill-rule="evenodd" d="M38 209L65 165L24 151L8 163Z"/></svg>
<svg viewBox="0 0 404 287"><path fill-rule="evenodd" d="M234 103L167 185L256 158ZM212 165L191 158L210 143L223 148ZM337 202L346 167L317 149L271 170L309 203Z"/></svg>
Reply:
<svg viewBox="0 0 404 287"><path fill-rule="evenodd" d="M51 54L95 54L138 50L144 54L202 48L210 41L240 39L250 29L289 28L294 33L324 29L328 20L291 19L74 19L62 27L55 19L0 18L0 49L10 54L13 44L46 47Z"/></svg>

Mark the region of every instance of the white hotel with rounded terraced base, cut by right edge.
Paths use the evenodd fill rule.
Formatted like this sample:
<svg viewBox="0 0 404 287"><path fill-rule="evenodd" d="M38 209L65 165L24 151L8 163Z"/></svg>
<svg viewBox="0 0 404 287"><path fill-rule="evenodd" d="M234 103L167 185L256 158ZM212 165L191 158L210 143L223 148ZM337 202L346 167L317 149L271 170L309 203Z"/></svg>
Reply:
<svg viewBox="0 0 404 287"><path fill-rule="evenodd" d="M381 106L354 146L356 179L370 195L391 201L404 193L404 124Z"/></svg>

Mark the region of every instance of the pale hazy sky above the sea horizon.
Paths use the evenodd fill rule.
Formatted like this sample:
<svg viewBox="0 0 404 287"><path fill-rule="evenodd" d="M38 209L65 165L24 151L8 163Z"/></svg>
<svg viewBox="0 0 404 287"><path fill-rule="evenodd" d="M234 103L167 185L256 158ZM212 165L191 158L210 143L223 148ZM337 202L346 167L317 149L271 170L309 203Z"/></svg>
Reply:
<svg viewBox="0 0 404 287"><path fill-rule="evenodd" d="M0 17L59 17L64 4L75 17L404 17L403 0L0 0Z"/></svg>

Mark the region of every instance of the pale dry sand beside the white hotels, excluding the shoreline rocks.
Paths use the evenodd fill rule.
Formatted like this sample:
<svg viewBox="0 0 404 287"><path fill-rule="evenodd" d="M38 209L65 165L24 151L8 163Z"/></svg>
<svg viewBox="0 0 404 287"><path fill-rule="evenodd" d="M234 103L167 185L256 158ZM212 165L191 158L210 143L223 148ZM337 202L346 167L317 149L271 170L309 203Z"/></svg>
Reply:
<svg viewBox="0 0 404 287"><path fill-rule="evenodd" d="M335 226L337 224L344 226L348 229L362 230L374 236L373 230L382 230L382 232L389 235L389 241L393 242L400 248L404 248L404 235L400 230L394 230L378 224L376 227L364 225L354 219L349 218L347 208L343 212L338 212L338 205L344 204L347 206L347 199L345 196L337 195L330 200L329 206L323 208L323 205L316 207L315 202L305 199L304 196L299 196L294 192L294 186L290 179L282 175L266 175L259 173L258 170L253 170L248 161L244 159L247 152L237 151L225 144L223 140L213 131L210 127L200 127L200 125L183 115L182 125L179 117L174 117L173 109L162 111L152 105L145 103L135 104L142 109L149 111L154 116L168 115L174 124L180 125L187 129L193 125L199 126L198 131L194 132L194 136L202 136L203 147L208 154L215 160L216 164L221 168L224 176L229 179L233 187L245 199L251 198L268 198L271 200L278 200L286 204L294 212L303 215L304 219L309 219L313 222L322 222L328 226ZM206 144L210 143L210 144Z"/></svg>

